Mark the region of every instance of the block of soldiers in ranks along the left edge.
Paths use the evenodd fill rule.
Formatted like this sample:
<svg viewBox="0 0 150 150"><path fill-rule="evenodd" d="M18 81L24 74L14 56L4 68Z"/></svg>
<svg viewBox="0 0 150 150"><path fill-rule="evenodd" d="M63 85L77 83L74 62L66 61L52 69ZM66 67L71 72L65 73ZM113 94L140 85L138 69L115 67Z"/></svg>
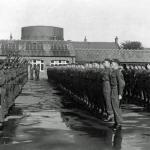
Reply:
<svg viewBox="0 0 150 150"><path fill-rule="evenodd" d="M28 80L27 60L16 56L0 63L0 125Z"/></svg>

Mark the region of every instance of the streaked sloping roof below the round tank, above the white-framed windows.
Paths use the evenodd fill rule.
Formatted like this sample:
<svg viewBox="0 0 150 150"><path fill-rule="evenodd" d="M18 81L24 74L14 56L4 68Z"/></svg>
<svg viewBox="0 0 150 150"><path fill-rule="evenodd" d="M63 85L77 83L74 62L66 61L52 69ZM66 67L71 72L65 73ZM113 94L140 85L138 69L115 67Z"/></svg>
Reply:
<svg viewBox="0 0 150 150"><path fill-rule="evenodd" d="M0 55L19 53L29 57L75 57L66 41L0 40Z"/></svg>

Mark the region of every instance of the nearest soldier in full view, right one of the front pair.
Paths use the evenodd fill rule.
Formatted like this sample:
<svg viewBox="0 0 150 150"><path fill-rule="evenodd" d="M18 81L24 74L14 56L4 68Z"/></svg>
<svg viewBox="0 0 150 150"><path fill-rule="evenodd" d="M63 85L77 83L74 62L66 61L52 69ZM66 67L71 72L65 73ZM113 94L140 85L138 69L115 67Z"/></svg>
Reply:
<svg viewBox="0 0 150 150"><path fill-rule="evenodd" d="M111 102L112 109L114 113L114 127L116 129L121 128L123 122L121 109L119 108L119 101L122 99L122 93L125 86L123 75L119 70L119 60L114 59L111 63L112 72L110 75L110 85L111 85Z"/></svg>

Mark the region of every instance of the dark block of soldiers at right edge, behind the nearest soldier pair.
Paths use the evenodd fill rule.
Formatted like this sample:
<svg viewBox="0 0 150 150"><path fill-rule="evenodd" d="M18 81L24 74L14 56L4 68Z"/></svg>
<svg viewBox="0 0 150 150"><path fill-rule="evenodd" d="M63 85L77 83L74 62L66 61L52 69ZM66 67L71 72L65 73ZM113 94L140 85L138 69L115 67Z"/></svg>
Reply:
<svg viewBox="0 0 150 150"><path fill-rule="evenodd" d="M126 82L124 100L150 107L150 64L123 65L122 73Z"/></svg>

